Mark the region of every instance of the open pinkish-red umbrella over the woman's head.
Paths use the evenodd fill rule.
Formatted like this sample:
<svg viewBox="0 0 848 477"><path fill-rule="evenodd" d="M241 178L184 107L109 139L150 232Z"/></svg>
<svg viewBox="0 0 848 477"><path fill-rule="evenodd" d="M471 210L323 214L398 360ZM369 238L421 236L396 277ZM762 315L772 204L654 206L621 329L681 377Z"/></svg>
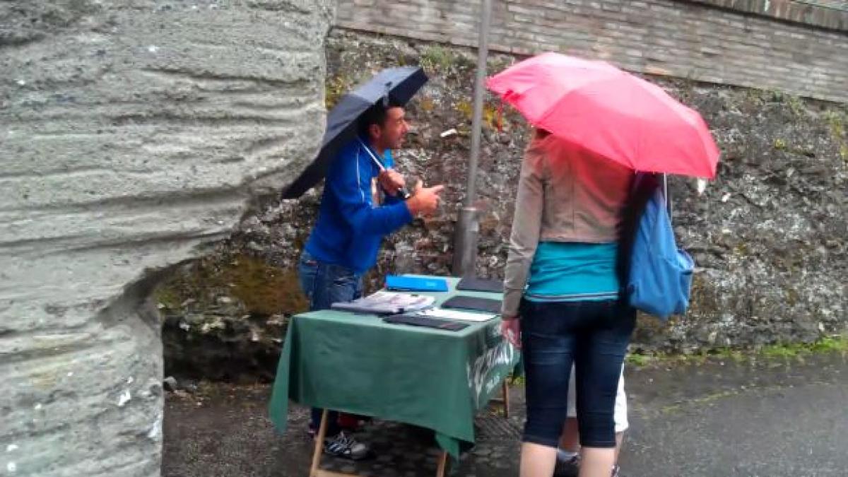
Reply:
<svg viewBox="0 0 848 477"><path fill-rule="evenodd" d="M544 53L492 76L488 88L533 126L624 166L716 177L719 152L703 118L603 61Z"/></svg>

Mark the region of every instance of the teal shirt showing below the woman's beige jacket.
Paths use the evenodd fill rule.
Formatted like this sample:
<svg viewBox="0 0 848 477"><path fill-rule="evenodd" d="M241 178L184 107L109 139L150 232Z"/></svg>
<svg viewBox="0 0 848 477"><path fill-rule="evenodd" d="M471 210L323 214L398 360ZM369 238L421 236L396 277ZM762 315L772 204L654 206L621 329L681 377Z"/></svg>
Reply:
<svg viewBox="0 0 848 477"><path fill-rule="evenodd" d="M618 244L540 242L525 297L533 301L616 300Z"/></svg>

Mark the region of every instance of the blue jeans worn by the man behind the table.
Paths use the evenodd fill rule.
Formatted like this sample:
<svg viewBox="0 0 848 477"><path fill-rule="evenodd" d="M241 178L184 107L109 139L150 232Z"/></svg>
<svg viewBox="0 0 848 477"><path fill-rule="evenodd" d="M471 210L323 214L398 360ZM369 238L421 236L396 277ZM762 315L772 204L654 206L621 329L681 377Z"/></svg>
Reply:
<svg viewBox="0 0 848 477"><path fill-rule="evenodd" d="M310 302L310 311L329 310L333 303L350 301L362 296L362 275L349 268L318 261L304 250L298 265L300 288ZM323 409L312 408L310 426L315 431L321 424ZM327 413L326 435L337 435L338 412Z"/></svg>

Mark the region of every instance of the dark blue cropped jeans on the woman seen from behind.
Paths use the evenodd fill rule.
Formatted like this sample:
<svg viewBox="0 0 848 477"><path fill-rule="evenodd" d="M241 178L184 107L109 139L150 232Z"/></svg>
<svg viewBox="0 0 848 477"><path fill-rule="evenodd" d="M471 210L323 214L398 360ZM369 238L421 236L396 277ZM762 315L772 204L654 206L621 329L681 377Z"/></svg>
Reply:
<svg viewBox="0 0 848 477"><path fill-rule="evenodd" d="M615 447L616 390L636 311L616 300L523 300L521 316L527 374L523 441L557 447L573 363L580 443Z"/></svg>

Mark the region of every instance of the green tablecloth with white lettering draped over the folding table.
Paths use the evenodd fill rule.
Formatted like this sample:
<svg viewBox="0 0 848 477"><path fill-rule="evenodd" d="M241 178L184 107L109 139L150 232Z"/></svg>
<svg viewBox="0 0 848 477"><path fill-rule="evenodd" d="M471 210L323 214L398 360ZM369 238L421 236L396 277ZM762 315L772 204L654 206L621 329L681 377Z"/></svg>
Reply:
<svg viewBox="0 0 848 477"><path fill-rule="evenodd" d="M436 304L455 290L427 293ZM433 429L439 446L459 457L474 442L474 415L519 362L500 335L500 319L451 332L383 323L375 315L312 311L288 324L271 394L271 420L287 424L288 400Z"/></svg>

